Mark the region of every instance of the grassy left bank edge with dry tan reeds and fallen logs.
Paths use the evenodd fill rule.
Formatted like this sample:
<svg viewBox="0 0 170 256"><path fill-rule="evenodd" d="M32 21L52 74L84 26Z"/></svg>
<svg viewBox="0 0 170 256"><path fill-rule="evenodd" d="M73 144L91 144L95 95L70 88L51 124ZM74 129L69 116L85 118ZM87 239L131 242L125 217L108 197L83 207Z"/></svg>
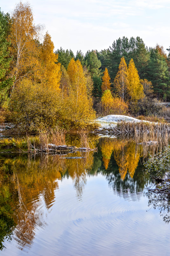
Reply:
<svg viewBox="0 0 170 256"><path fill-rule="evenodd" d="M0 140L0 153L37 154L44 152L61 154L61 152L65 152L67 154L77 151L97 151L97 148L94 147L85 132L79 133L81 147L66 145L65 133L66 131L63 129L51 129L50 131L40 132L36 136L26 135L23 138L3 138Z"/></svg>

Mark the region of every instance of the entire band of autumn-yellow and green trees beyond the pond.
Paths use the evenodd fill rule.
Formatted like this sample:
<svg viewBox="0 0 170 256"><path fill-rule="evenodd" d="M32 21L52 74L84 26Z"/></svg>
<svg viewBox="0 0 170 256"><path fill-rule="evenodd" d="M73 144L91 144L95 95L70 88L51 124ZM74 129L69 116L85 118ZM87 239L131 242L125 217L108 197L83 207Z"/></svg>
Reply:
<svg viewBox="0 0 170 256"><path fill-rule="evenodd" d="M29 3L0 10L0 111L19 129L86 127L96 112L154 115L170 100L170 49L123 37L74 56L54 52L48 31L41 42L42 30Z"/></svg>

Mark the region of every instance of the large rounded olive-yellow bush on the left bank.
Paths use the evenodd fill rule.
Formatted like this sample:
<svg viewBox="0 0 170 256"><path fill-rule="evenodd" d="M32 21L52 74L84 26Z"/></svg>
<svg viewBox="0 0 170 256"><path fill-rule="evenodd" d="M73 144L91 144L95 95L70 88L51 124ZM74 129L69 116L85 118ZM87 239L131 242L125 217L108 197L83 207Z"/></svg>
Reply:
<svg viewBox="0 0 170 256"><path fill-rule="evenodd" d="M54 128L63 116L57 91L28 79L13 90L10 109L12 120L24 131Z"/></svg>

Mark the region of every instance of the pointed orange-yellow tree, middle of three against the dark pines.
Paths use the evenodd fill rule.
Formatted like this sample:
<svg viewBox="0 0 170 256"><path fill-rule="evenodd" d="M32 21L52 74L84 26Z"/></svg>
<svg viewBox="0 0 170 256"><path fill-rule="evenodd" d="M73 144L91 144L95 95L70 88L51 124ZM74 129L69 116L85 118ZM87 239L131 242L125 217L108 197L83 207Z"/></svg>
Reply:
<svg viewBox="0 0 170 256"><path fill-rule="evenodd" d="M127 98L129 81L127 75L127 65L125 58L122 57L119 64L119 70L114 79L114 87L118 95L125 100Z"/></svg>

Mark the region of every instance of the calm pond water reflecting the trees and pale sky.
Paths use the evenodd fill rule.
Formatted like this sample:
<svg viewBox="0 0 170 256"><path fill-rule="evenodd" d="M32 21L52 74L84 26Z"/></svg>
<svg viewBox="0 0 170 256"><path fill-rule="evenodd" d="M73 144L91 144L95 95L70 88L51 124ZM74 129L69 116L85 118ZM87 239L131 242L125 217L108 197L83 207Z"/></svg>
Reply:
<svg viewBox="0 0 170 256"><path fill-rule="evenodd" d="M0 255L170 255L169 202L142 165L152 146L91 141L98 152L0 155Z"/></svg>

